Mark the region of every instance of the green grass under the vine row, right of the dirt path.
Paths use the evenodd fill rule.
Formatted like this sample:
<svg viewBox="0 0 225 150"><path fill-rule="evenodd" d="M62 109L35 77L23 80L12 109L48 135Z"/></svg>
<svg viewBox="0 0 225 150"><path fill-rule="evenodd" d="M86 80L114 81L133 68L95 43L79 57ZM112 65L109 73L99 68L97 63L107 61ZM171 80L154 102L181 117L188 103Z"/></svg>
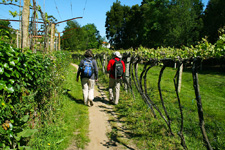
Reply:
<svg viewBox="0 0 225 150"><path fill-rule="evenodd" d="M142 66L139 65L139 75L141 70ZM148 94L165 115L157 87L159 72L160 67L150 69L147 76ZM116 106L116 111L119 112L120 120L125 120L127 129L124 131L125 134L136 141L140 149L183 149L177 134L180 130L181 119L173 83L174 75L175 70L173 68L166 68L161 81L163 99L172 120L174 136L169 135L168 127L156 110L157 118L153 117L151 110L146 106L137 91L135 91L134 100L131 94L126 94L121 90L120 102ZM198 77L205 127L210 143L214 149L225 149L223 142L225 141L224 74L200 72ZM180 99L184 114L184 137L187 147L196 150L206 149L199 127L192 74L189 70L183 72Z"/></svg>

